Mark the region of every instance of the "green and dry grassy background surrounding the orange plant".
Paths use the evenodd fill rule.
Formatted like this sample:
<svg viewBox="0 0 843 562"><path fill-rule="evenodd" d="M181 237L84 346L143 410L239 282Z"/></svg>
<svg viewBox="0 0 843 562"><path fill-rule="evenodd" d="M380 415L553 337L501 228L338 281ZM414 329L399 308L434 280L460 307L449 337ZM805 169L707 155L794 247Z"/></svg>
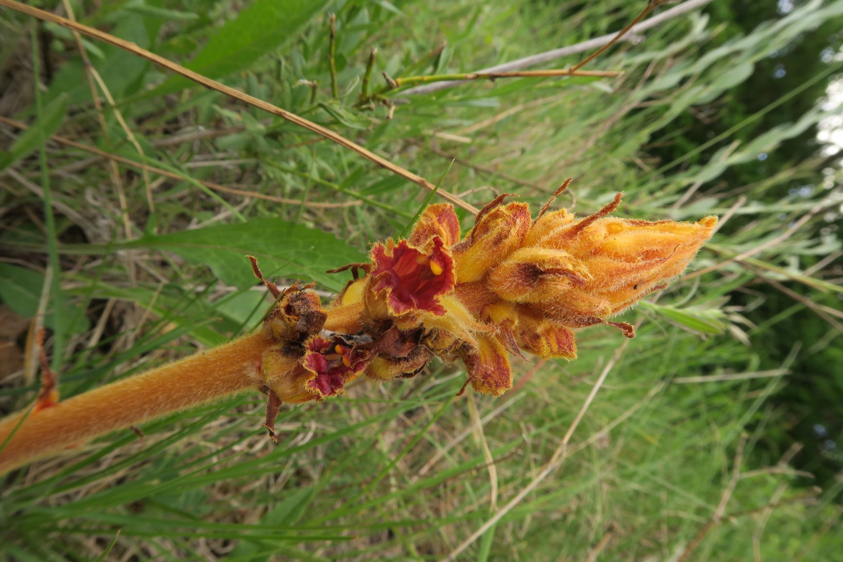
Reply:
<svg viewBox="0 0 843 562"><path fill-rule="evenodd" d="M818 391L834 403L843 389L839 370L804 366L839 357L840 167L819 147L788 149L804 148L836 115L816 98L840 62L812 59L813 73L796 83L748 91L772 58L818 29L840 29L843 2L795 4L766 24L744 18L743 31L717 2L670 20L589 67L621 78L388 92L389 119L386 103L358 103L373 46L378 91L382 72L468 72L603 35L643 3L72 3L83 23L190 62L431 181L456 158L441 188L475 205L499 192L540 204L574 176L559 203L580 213L624 191L626 216L717 213L725 222L685 280L623 316L642 322L631 342L592 328L572 363L517 362L515 388L497 399L455 398L464 374L438 362L410 381L357 385L339 400L282 411L278 446L260 429L257 395L146 424L142 439L110 435L4 477L0 553L839 557L840 409L822 413L837 416L824 426L831 435L799 444L792 428L808 413L787 397L793 377L813 387L808 409ZM247 251L279 282L313 278L328 297L345 278L322 272L400 234L427 195L292 124L83 40L124 127L105 99L101 112L94 105L67 30L6 9L0 29L0 116L30 126L0 124L3 410L37 392L23 365L30 318L48 328L69 397L248 330L267 301ZM765 102L741 103L748 98ZM114 169L51 135L136 164Z"/></svg>

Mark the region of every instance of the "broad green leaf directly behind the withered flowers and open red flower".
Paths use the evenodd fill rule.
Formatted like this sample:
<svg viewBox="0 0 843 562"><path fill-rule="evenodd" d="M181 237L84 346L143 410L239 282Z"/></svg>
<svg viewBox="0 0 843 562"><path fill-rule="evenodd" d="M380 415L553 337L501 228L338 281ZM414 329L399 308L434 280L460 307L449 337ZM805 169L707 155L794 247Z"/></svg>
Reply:
<svg viewBox="0 0 843 562"><path fill-rule="evenodd" d="M314 280L334 290L342 289L345 278L325 270L366 261L361 251L333 235L279 219L144 236L121 246L174 251L188 262L211 267L223 283L239 289L255 284L246 255L258 258L267 278Z"/></svg>

